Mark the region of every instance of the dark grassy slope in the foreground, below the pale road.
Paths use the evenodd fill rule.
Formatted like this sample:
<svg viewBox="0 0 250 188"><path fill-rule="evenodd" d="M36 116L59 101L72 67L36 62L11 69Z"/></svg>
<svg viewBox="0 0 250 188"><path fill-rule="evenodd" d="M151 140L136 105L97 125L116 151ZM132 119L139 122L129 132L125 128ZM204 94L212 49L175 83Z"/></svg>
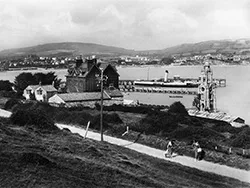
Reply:
<svg viewBox="0 0 250 188"><path fill-rule="evenodd" d="M0 123L0 187L249 187L67 131Z"/></svg>

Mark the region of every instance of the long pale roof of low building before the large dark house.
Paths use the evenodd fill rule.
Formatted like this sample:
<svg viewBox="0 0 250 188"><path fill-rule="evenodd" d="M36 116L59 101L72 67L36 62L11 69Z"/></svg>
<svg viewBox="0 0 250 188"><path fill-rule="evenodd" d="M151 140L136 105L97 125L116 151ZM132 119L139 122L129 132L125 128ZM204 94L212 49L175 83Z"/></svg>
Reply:
<svg viewBox="0 0 250 188"><path fill-rule="evenodd" d="M64 102L79 102L79 101L93 101L100 100L100 92L83 92L83 93L62 93L57 94ZM103 93L103 99L111 99L105 92Z"/></svg>

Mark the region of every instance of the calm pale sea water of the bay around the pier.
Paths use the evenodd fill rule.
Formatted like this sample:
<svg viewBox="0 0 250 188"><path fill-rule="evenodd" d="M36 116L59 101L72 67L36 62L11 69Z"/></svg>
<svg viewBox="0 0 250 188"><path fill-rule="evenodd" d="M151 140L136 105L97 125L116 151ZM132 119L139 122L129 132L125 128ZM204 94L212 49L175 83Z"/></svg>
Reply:
<svg viewBox="0 0 250 188"><path fill-rule="evenodd" d="M235 66L211 66L214 78L226 79L226 87L216 89L217 110L232 116L239 116L250 124L250 65ZM179 75L182 78L198 78L202 66L126 66L117 67L120 79L157 79L163 78L165 70L169 77ZM22 72L55 72L62 81L66 80L66 69L37 69L25 71L0 72L0 80L13 82L15 77ZM186 108L192 108L194 95L183 95L183 98L170 98L169 94L163 93L137 93L126 92L124 98L138 100L140 103L171 105L175 101L182 102Z"/></svg>

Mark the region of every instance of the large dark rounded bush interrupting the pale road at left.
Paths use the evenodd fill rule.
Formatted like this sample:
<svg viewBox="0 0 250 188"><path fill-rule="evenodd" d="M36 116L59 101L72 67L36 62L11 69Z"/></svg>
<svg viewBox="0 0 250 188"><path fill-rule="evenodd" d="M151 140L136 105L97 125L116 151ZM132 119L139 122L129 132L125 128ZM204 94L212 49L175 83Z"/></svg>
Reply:
<svg viewBox="0 0 250 188"><path fill-rule="evenodd" d="M11 115L10 120L13 124L33 127L42 131L58 130L53 120L39 109L17 110Z"/></svg>

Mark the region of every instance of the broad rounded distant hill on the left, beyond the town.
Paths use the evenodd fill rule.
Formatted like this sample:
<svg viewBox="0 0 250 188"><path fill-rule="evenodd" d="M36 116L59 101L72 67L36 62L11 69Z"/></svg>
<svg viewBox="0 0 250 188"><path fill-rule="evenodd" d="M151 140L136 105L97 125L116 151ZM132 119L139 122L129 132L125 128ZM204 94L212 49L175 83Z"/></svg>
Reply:
<svg viewBox="0 0 250 188"><path fill-rule="evenodd" d="M87 55L87 54L133 54L133 50L124 48L105 46L92 43L77 43L77 42L63 42L63 43L49 43L26 48L15 48L0 51L0 56L18 56L36 54L40 56L68 56L68 55Z"/></svg>

